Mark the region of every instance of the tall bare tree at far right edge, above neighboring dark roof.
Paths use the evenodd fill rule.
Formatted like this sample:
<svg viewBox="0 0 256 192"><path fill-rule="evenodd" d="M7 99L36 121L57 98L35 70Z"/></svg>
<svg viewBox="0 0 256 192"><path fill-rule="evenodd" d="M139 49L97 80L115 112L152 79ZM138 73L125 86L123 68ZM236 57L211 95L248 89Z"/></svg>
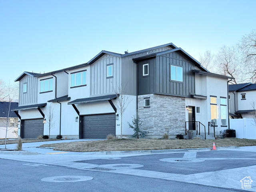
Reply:
<svg viewBox="0 0 256 192"><path fill-rule="evenodd" d="M245 80L256 83L256 30L244 35L238 48L244 63L242 72L246 76Z"/></svg>

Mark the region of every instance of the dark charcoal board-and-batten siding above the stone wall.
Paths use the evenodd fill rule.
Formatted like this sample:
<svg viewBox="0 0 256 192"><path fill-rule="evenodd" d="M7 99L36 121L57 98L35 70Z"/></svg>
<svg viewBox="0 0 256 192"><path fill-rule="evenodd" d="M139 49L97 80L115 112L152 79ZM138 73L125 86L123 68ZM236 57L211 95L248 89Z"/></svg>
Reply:
<svg viewBox="0 0 256 192"><path fill-rule="evenodd" d="M149 75L142 75L143 64L149 64ZM183 82L171 80L170 66L183 68ZM195 75L191 72L195 65L178 52L138 61L138 94L166 94L190 97L195 93Z"/></svg>

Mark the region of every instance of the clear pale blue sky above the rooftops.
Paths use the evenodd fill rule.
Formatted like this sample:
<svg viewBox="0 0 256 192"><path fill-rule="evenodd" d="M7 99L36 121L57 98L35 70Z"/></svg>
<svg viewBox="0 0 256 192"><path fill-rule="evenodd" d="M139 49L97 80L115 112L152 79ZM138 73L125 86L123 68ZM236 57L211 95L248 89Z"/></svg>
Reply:
<svg viewBox="0 0 256 192"><path fill-rule="evenodd" d="M256 0L0 0L0 78L169 42L199 59L256 28Z"/></svg>

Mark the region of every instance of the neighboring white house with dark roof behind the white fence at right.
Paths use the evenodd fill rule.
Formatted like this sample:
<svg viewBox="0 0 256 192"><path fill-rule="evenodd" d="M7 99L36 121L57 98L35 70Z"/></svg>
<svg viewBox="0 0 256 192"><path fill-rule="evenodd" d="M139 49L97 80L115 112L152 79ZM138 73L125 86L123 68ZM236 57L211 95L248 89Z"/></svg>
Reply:
<svg viewBox="0 0 256 192"><path fill-rule="evenodd" d="M242 83L228 86L228 102L230 118L253 118L256 107L256 84Z"/></svg>

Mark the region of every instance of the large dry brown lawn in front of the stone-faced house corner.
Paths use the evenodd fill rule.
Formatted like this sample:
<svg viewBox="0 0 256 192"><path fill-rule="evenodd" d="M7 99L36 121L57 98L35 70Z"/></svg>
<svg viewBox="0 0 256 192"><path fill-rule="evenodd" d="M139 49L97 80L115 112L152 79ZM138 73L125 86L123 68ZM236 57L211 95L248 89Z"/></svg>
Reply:
<svg viewBox="0 0 256 192"><path fill-rule="evenodd" d="M130 151L204 148L220 146L256 146L256 140L225 138L218 140L178 140L178 139L112 139L101 141L80 141L56 144L43 144L42 147L54 147L54 150L72 152Z"/></svg>

